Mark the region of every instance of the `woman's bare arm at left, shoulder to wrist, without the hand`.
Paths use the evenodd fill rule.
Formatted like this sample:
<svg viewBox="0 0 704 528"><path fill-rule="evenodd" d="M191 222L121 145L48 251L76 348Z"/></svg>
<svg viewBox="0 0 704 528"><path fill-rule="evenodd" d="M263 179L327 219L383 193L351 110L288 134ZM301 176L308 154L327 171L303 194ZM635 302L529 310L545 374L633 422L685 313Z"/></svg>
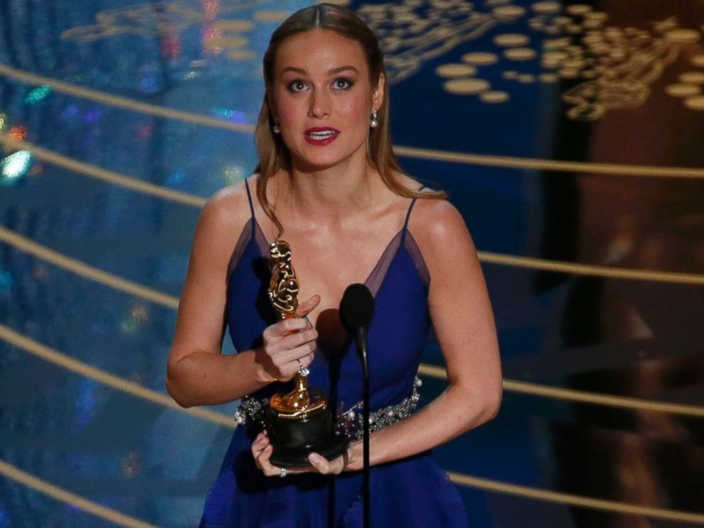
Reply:
<svg viewBox="0 0 704 528"><path fill-rule="evenodd" d="M255 351L221 354L226 270L237 229L247 219L238 194L229 187L211 197L195 231L166 378L167 391L182 407L236 400L270 381Z"/></svg>

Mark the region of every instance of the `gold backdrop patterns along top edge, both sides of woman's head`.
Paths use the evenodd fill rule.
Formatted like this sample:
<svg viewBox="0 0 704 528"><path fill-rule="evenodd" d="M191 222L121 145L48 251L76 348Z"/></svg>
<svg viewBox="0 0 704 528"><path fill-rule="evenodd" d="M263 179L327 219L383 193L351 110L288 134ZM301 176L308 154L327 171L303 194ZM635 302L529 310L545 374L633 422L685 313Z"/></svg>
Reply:
<svg viewBox="0 0 704 528"><path fill-rule="evenodd" d="M436 67L439 77L451 79L443 83L445 91L497 104L510 101L511 84L555 84L563 80L571 84L561 96L569 106L566 115L576 121L595 121L607 111L641 106L665 68L683 48L702 37L701 28L681 27L675 17L652 22L650 30L621 28L607 26L608 14L587 4L563 6L558 1L535 1L527 9L513 1L484 0L477 5L467 0L405 0L363 4L358 14L380 38L391 83L414 75L424 62L458 45L510 25L511 33L493 37L497 50L475 50L462 55L461 63ZM336 3L346 5L349 1ZM247 47L249 39L242 33L255 24L278 23L288 14L285 10L257 9L265 4L270 2L223 0L216 13L207 13L178 0L158 1L100 11L94 25L70 28L62 38L89 43L119 35L174 34L204 24L204 48L211 55L223 53L229 60L254 61L258 55ZM254 10L251 20L216 20L245 9ZM516 31L520 24L525 31ZM693 70L683 72L678 84L666 87L665 93L681 99L683 108L702 111L698 98L704 70L695 68L704 69L704 55L688 58ZM497 78L481 78L481 67L500 67L502 60L524 65L527 71L505 75L513 74L515 69L511 68ZM199 71L193 70L187 78L198 75ZM500 92L507 97L486 97L485 92Z"/></svg>

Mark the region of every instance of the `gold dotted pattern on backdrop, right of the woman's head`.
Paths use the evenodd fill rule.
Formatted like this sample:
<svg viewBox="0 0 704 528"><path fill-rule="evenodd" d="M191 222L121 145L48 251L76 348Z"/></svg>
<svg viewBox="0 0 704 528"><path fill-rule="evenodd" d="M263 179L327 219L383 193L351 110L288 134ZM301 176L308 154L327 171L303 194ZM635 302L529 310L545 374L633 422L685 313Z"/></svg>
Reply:
<svg viewBox="0 0 704 528"><path fill-rule="evenodd" d="M568 104L566 114L576 121L594 121L607 111L644 104L664 69L685 46L697 43L702 36L693 28L678 26L674 17L654 21L650 31L607 26L608 14L587 4L535 1L529 9L512 4L512 0L475 4L466 0L406 0L365 4L358 13L380 36L392 82L413 75L422 62L510 24L512 33L492 38L498 49L473 50L461 56L461 63L436 67L439 77L451 77L443 82L444 90L496 104L511 99L510 87L498 84L554 84L562 79L570 83L561 97ZM520 24L529 31L524 33ZM512 67L496 79L495 68L501 67L503 60L523 64L526 70ZM694 68L704 68L703 55L694 55L690 62ZM463 70L463 65L469 68ZM488 75L483 76L483 67L490 67ZM681 97L688 109L700 109L697 98L702 93L704 71L685 72L679 81L678 87L666 89L666 94ZM507 97L485 95L495 92Z"/></svg>

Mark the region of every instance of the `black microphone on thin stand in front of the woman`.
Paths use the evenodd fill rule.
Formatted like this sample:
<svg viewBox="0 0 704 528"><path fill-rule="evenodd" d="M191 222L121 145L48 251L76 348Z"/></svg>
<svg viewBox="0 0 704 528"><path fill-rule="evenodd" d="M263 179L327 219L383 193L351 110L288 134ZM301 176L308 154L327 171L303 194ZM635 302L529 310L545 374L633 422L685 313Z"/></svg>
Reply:
<svg viewBox="0 0 704 528"><path fill-rule="evenodd" d="M369 363L367 361L367 330L374 317L374 297L363 284L349 285L340 302L340 320L345 329L353 334L357 342L357 352L362 362L362 430L363 430L363 480L364 528L370 527L369 491Z"/></svg>

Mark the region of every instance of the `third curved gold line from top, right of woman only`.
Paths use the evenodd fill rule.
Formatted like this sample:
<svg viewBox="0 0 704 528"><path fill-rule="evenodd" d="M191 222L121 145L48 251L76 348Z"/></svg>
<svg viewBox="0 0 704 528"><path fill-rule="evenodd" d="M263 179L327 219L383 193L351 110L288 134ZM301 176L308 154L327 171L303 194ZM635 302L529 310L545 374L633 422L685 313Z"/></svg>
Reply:
<svg viewBox="0 0 704 528"><path fill-rule="evenodd" d="M422 363L418 368L420 375L429 378L446 380L447 373L444 368L436 365ZM610 396L598 394L596 392L586 392L583 390L562 389L550 387L549 385L538 385L537 383L526 383L524 381L508 380L503 381L505 390L518 392L519 394L553 398L555 400L565 400L568 402L590 403L594 405L605 405L606 407L620 407L621 409L637 409L640 411L665 412L668 414L680 414L704 418L704 407L698 405L686 405L681 403L655 402L652 400L642 400L640 398L629 398L623 396Z"/></svg>

